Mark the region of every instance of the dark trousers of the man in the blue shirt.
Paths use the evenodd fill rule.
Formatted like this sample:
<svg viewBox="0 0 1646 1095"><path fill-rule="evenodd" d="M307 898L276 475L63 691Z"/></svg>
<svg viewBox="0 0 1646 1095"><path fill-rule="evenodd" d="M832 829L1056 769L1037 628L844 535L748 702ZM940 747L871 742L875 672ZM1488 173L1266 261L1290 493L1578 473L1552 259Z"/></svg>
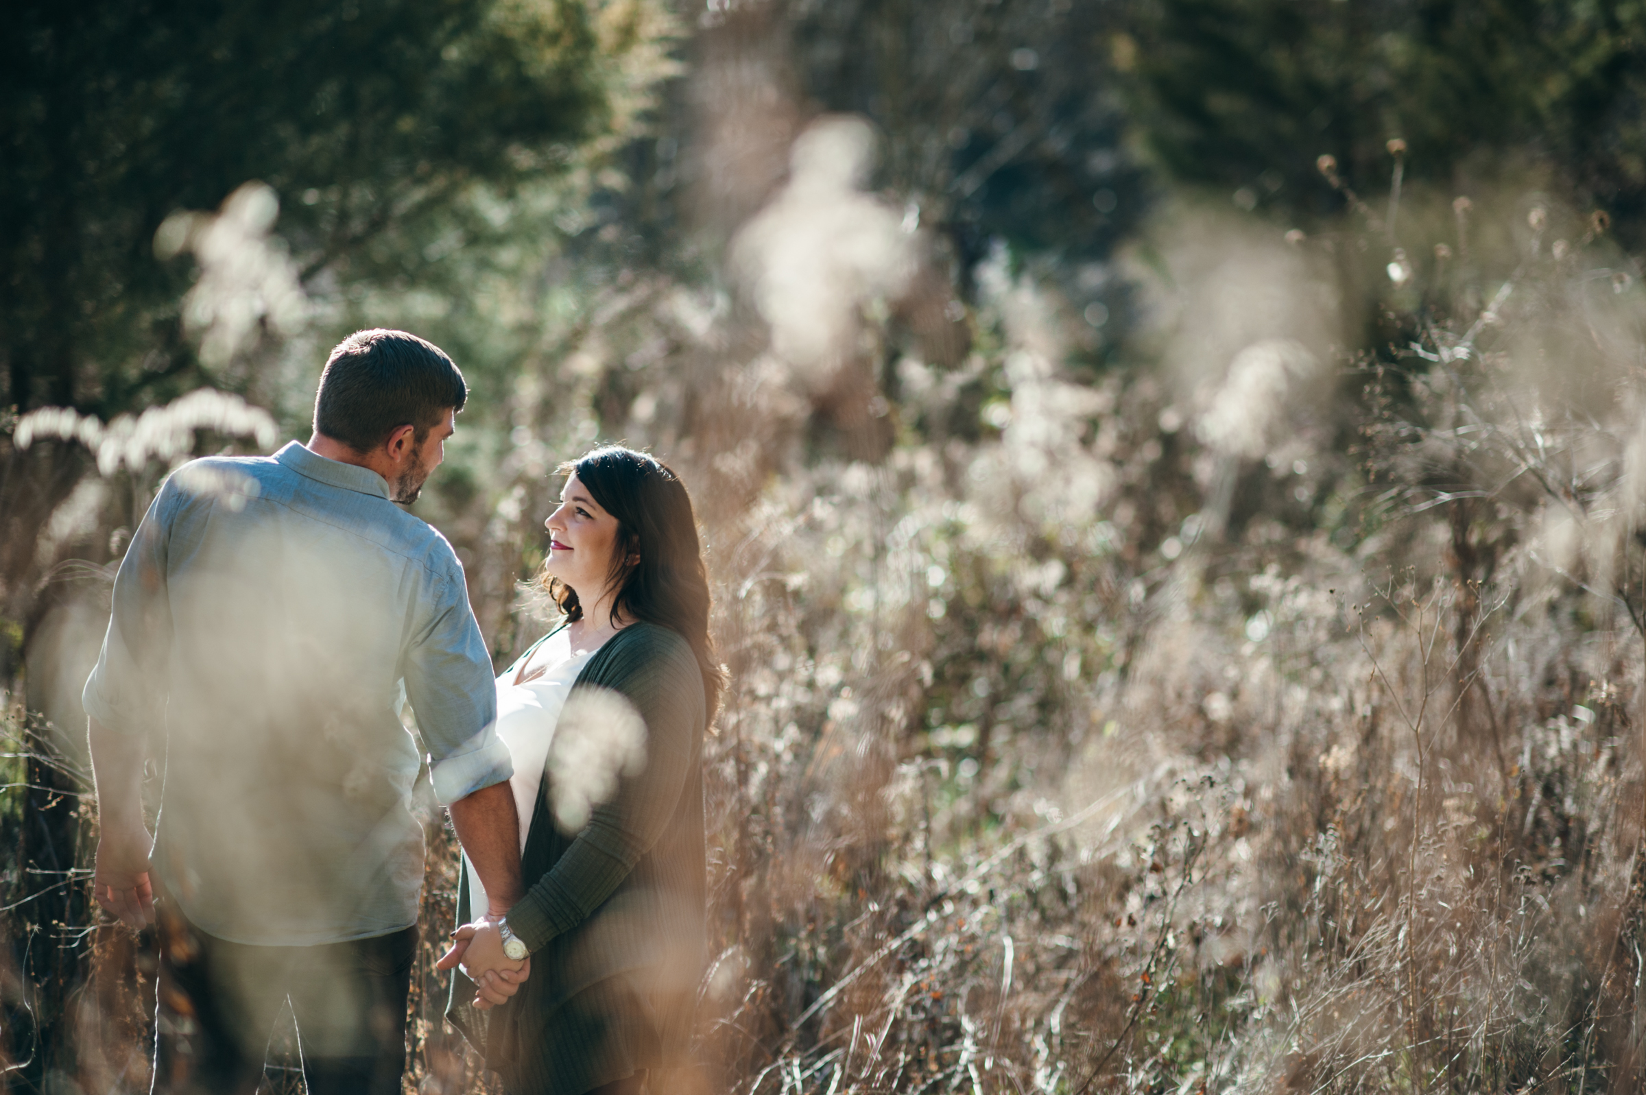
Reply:
<svg viewBox="0 0 1646 1095"><path fill-rule="evenodd" d="M286 999L309 1095L398 1095L418 930L318 947L216 939L156 907L155 1092L252 1095Z"/></svg>

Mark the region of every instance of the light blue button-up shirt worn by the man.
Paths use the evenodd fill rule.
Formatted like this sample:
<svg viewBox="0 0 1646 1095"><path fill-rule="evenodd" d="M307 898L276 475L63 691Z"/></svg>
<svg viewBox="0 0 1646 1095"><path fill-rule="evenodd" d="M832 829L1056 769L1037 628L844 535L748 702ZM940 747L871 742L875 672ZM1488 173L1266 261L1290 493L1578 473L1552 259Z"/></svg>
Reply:
<svg viewBox="0 0 1646 1095"><path fill-rule="evenodd" d="M165 757L155 869L191 922L265 945L416 922L407 701L436 799L509 779L463 565L382 476L293 441L166 479L84 703Z"/></svg>

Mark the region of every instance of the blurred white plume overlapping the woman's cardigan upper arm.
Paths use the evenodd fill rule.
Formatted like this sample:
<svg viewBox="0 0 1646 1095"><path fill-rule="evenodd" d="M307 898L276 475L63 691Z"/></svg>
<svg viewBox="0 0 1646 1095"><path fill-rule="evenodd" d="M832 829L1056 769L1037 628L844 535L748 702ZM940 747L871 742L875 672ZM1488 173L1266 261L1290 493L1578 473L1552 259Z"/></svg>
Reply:
<svg viewBox="0 0 1646 1095"><path fill-rule="evenodd" d="M622 695L578 688L566 698L548 748L548 797L555 823L576 833L594 807L611 802L617 780L645 767L645 720Z"/></svg>

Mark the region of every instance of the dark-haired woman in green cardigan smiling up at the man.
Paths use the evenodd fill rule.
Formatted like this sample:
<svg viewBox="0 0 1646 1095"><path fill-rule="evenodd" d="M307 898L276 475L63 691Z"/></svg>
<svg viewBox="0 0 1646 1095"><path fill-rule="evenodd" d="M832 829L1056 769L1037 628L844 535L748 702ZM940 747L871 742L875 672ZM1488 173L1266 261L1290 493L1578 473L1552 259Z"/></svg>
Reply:
<svg viewBox="0 0 1646 1095"><path fill-rule="evenodd" d="M561 471L543 578L565 622L497 678L525 897L458 929L446 1014L514 1095L629 1093L690 1036L721 670L680 479L616 446ZM464 863L459 920L486 907Z"/></svg>

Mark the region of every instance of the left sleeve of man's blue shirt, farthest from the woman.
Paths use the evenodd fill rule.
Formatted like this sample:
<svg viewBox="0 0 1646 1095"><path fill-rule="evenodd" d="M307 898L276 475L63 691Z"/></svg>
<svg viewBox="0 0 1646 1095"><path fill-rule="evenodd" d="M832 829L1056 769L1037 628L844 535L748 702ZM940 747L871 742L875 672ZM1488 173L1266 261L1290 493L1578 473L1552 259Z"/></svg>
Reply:
<svg viewBox="0 0 1646 1095"><path fill-rule="evenodd" d="M166 713L171 657L166 552L176 497L168 479L120 560L109 631L81 692L86 713L120 734L153 734Z"/></svg>

